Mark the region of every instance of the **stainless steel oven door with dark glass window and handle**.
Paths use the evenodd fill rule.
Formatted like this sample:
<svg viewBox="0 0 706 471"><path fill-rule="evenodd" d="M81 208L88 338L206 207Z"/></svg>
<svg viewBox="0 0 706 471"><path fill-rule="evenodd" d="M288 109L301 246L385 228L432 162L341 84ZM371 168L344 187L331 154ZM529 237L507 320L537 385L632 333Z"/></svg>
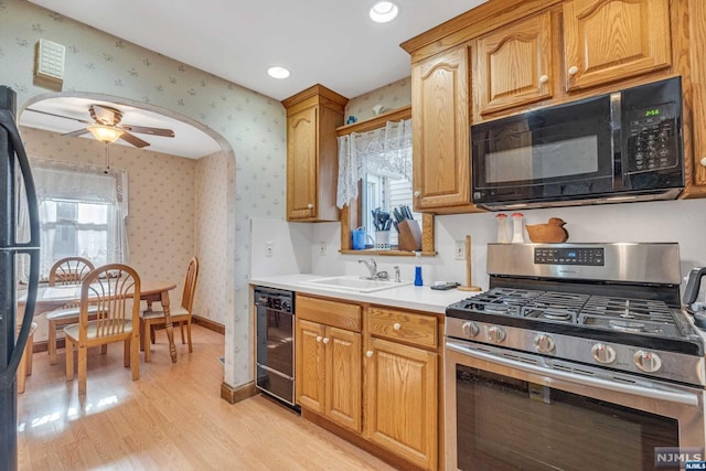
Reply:
<svg viewBox="0 0 706 471"><path fill-rule="evenodd" d="M675 447L703 459L703 389L452 339L445 354L447 470L678 470Z"/></svg>

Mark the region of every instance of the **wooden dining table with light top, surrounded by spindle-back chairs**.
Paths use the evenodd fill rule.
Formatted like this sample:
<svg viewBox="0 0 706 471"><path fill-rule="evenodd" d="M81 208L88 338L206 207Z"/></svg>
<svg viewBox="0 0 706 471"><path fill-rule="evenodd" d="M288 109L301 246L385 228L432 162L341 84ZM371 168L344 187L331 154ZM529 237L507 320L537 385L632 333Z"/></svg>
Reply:
<svg viewBox="0 0 706 471"><path fill-rule="evenodd" d="M142 281L140 287L140 300L147 301L148 307L151 307L153 302L162 304L164 327L167 329L167 338L169 339L169 353L172 357L172 363L176 363L176 345L174 345L174 327L169 308L169 291L174 288L176 288L175 282L152 280ZM22 310L24 308L25 297L25 293L18 297L18 307ZM81 302L81 285L40 287L36 291L34 315L36 317L43 312L53 311L54 309L73 302Z"/></svg>

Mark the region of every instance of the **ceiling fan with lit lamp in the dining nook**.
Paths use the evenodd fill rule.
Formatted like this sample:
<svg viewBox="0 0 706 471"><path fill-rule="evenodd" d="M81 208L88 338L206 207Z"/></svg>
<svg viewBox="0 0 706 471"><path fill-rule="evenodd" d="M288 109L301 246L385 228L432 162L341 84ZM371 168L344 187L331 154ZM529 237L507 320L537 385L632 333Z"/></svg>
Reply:
<svg viewBox="0 0 706 471"><path fill-rule="evenodd" d="M168 138L174 137L174 131L163 128L151 128L147 126L128 125L120 122L122 120L122 111L117 108L113 108L105 105L90 105L88 106L88 113L94 122L85 119L74 118L71 116L56 115L40 109L26 108L28 111L39 113L42 115L54 116L57 118L73 119L74 121L83 122L85 128L77 129L72 132L63 133L62 136L81 136L86 132L90 132L97 140L111 143L118 139L122 139L126 142L131 143L137 148L148 147L150 143L143 139L138 138L132 132L145 133L150 136L162 136Z"/></svg>

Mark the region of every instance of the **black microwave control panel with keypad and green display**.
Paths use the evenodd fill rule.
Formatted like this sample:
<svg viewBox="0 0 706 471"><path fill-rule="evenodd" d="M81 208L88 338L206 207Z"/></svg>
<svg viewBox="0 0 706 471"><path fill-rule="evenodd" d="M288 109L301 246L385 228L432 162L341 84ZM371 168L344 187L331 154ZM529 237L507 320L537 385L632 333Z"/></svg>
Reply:
<svg viewBox="0 0 706 471"><path fill-rule="evenodd" d="M628 119L629 173L653 172L678 165L673 104L630 110Z"/></svg>

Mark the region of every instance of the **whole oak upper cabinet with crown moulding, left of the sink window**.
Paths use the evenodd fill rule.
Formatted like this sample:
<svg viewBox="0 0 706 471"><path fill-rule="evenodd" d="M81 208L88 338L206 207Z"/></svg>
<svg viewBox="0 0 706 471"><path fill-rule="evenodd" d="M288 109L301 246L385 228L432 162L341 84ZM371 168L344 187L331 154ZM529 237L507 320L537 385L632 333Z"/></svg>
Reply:
<svg viewBox="0 0 706 471"><path fill-rule="evenodd" d="M335 128L347 98L321 85L282 100L287 108L287 220L339 221Z"/></svg>

